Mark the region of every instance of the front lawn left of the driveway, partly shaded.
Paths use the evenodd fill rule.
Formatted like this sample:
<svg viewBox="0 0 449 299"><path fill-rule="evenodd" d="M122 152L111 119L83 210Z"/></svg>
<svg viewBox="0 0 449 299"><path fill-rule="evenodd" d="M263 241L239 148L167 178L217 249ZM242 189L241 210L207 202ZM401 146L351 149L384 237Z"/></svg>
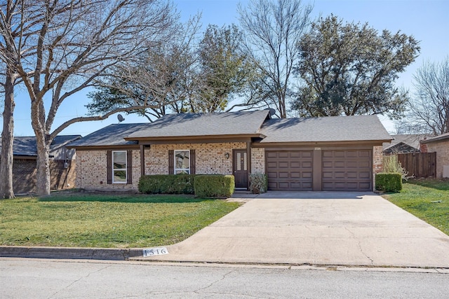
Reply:
<svg viewBox="0 0 449 299"><path fill-rule="evenodd" d="M0 200L0 245L134 248L170 245L239 203L187 195L65 195Z"/></svg>

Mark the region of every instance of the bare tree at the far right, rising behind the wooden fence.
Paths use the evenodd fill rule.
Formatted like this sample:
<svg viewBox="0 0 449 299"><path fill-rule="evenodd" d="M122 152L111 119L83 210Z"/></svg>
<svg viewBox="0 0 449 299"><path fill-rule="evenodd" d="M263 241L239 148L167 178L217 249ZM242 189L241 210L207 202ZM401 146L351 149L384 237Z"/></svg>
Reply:
<svg viewBox="0 0 449 299"><path fill-rule="evenodd" d="M407 123L433 134L449 132L449 57L439 63L424 62L413 76L415 95Z"/></svg>

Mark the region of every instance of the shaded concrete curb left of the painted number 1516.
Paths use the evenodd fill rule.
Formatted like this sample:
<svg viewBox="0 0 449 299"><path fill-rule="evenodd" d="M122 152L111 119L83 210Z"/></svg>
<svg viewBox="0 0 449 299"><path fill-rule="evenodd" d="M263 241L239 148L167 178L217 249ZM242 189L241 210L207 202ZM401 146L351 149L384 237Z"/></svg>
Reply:
<svg viewBox="0 0 449 299"><path fill-rule="evenodd" d="M27 247L0 246L4 258L58 258L82 260L128 260L142 256L142 249L86 248L86 247Z"/></svg>

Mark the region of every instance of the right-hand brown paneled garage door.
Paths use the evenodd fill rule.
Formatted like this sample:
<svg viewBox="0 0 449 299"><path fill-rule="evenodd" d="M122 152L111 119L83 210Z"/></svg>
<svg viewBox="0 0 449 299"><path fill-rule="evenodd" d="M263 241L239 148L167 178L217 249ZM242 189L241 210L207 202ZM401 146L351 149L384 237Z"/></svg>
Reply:
<svg viewBox="0 0 449 299"><path fill-rule="evenodd" d="M322 159L324 191L373 190L370 150L323 151Z"/></svg>

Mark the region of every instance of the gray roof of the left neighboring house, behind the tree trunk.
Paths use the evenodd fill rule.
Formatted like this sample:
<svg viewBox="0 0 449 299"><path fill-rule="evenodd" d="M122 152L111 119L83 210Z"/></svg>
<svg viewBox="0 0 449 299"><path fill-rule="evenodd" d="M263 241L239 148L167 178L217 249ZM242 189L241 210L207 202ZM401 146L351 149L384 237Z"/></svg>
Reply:
<svg viewBox="0 0 449 299"><path fill-rule="evenodd" d="M71 141L80 139L81 135L58 135L50 145L50 152L55 151ZM0 138L1 148L1 138ZM37 155L36 137L14 137L13 155L35 156Z"/></svg>

